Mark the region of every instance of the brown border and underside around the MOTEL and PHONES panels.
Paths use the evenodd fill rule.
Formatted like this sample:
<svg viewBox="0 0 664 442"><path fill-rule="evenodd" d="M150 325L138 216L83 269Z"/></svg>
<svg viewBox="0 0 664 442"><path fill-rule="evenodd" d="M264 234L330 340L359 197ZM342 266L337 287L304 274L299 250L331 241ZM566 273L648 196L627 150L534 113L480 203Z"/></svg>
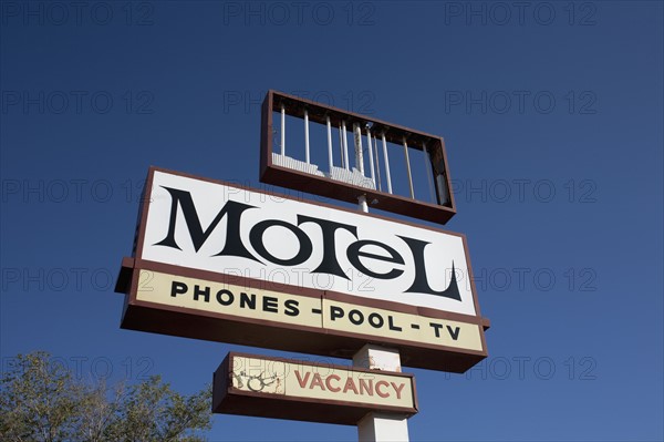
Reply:
<svg viewBox="0 0 664 442"><path fill-rule="evenodd" d="M221 184L225 186L236 187L249 192L300 202L299 199L286 195L280 195L278 193L261 192L250 187L230 184L218 179L201 178L190 174L178 173L160 167L151 166L146 185L144 188L139 223L137 226L136 238L134 241L135 257L123 259L122 268L115 288L115 290L118 292L127 294L127 296L125 297L125 305L121 323L122 328L158 332L163 335L188 337L194 339L238 343L243 346L263 347L286 351L298 351L321 356L330 356L336 358L352 358L352 356L355 352L357 352L364 345L377 343L398 348L404 366L452 372L465 372L470 367L475 366L488 356L486 350L487 347L484 330L488 329L490 323L489 320L487 318L483 318L479 312L479 305L476 296L475 282L473 280L470 258L468 256L468 248L466 245L465 235L446 232L430 226L422 226L414 223L403 222L403 224L411 225L417 228L424 228L434 232L440 232L448 235L455 235L463 239L466 254L466 261L468 265L468 277L470 278L471 284L470 291L473 295L473 301L477 316L455 313L444 310L411 306L406 304L398 304L392 301L384 301L373 298L362 298L335 291L317 290L308 287L290 286L279 282L266 282L251 278L243 278L188 267L179 267L163 263L144 260L142 259L142 251L145 241L145 229L147 224L147 212L149 205L148 198L152 194L155 172L163 172L177 176L209 182L214 184ZM310 202L307 203L311 204ZM322 203L318 205L335 210L352 213L353 215L357 216L369 216L372 218L395 222L394 219L376 214L364 214ZM267 321L260 319L240 319L224 313L206 312L188 308L172 307L155 302L141 301L136 299L138 289L138 275L141 269L159 271L175 276L198 278L217 282L228 282L245 287L264 288L266 284L269 284L270 289L274 291L281 291L284 294L309 296L315 298L326 297L328 299L354 304L359 306L381 308L395 312L422 315L432 318L475 323L479 326L483 351L458 349L443 346L432 346L426 343L415 343L412 341L404 341L393 338L377 338L375 336L320 329L318 327L286 325L281 322Z"/></svg>

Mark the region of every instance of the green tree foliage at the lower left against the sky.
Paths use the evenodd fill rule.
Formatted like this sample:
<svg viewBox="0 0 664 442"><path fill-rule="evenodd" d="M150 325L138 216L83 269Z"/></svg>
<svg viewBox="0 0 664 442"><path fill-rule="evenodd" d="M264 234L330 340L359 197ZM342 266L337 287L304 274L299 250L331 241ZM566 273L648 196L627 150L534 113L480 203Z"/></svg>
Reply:
<svg viewBox="0 0 664 442"><path fill-rule="evenodd" d="M84 382L45 352L19 354L0 379L0 440L203 441L211 389L181 395L159 376L112 388Z"/></svg>

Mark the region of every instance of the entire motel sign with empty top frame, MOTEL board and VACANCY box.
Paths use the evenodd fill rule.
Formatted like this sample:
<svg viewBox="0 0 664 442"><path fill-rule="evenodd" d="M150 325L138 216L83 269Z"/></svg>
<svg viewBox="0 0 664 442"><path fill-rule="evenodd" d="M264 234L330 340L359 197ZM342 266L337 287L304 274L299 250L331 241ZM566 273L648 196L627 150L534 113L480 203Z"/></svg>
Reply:
<svg viewBox="0 0 664 442"><path fill-rule="evenodd" d="M300 122L303 142L292 142L287 127ZM487 357L489 321L466 237L369 213L437 224L454 216L443 140L270 91L260 173L267 183L359 202L361 212L151 167L116 285L126 295L121 327L346 359L367 345L387 349L397 360L387 371L230 353L214 376L212 410L357 424L361 434L372 413L392 413L407 438L417 399L400 361L465 372ZM415 197L418 176L426 201Z"/></svg>

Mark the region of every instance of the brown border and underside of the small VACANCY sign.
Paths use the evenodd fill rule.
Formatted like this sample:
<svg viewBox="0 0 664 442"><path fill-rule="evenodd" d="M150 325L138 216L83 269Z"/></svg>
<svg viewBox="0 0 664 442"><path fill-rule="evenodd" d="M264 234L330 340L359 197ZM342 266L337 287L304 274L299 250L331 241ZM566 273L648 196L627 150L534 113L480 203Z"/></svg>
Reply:
<svg viewBox="0 0 664 442"><path fill-rule="evenodd" d="M343 400L328 400L315 398L297 398L284 394L261 393L239 390L232 387L230 373L231 360L236 357L260 359L267 361L305 364L324 369L338 369L357 373L390 374L407 378L413 390L414 408L391 407L380 404L359 403ZM212 412L224 414L241 414L260 418L289 419L308 422L338 423L356 425L357 422L371 412L390 412L409 418L418 411L417 390L415 377L411 373L393 371L372 371L367 369L302 361L287 358L271 358L257 354L229 352L219 368L215 371L212 381Z"/></svg>

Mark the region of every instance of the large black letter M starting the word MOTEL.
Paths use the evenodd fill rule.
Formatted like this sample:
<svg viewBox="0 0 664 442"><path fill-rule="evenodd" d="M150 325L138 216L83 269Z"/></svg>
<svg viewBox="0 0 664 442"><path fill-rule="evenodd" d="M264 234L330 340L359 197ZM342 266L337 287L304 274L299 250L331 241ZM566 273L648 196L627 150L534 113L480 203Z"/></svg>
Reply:
<svg viewBox="0 0 664 442"><path fill-rule="evenodd" d="M247 250L242 244L242 240L240 239L240 218L242 213L248 208L255 208L255 206L228 201L224 207L221 207L221 210L219 210L215 219L212 219L208 228L204 232L203 226L200 225L200 218L198 218L196 207L194 206L194 201L191 199L191 194L177 188L170 188L166 186L162 187L164 187L170 194L170 217L166 237L159 243L155 244L155 246L166 246L181 250L181 248L175 241L175 223L177 219L177 207L179 206L183 209L189 237L191 238L191 244L194 245L194 249L196 251L203 247L219 222L226 216L226 214L228 214L228 219L226 222L226 244L224 245L221 251L214 256L238 256L240 258L248 258L258 261L258 259L256 259L249 253L249 250Z"/></svg>

